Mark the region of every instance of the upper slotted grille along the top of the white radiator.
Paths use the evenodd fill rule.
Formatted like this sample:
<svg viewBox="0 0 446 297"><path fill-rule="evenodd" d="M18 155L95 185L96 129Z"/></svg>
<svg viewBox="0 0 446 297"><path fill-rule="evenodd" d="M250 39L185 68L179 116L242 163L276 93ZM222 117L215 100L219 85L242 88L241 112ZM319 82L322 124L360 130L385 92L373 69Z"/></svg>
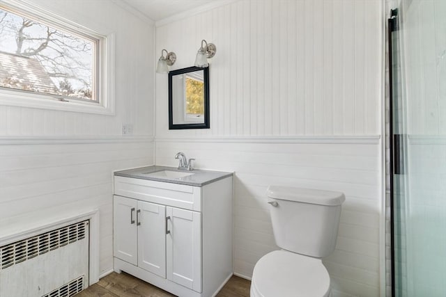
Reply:
<svg viewBox="0 0 446 297"><path fill-rule="evenodd" d="M0 247L0 270L85 239L88 220ZM59 295L55 295L59 296ZM62 295L61 295L62 296ZM65 295L63 295L65 296Z"/></svg>

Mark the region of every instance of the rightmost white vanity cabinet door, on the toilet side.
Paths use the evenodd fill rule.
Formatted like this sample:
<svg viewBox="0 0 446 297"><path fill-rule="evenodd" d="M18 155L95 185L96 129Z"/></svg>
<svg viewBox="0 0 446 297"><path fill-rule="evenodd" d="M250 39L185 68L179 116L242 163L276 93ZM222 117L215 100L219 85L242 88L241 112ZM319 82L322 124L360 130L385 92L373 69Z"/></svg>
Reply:
<svg viewBox="0 0 446 297"><path fill-rule="evenodd" d="M201 214L166 207L167 279L201 292Z"/></svg>

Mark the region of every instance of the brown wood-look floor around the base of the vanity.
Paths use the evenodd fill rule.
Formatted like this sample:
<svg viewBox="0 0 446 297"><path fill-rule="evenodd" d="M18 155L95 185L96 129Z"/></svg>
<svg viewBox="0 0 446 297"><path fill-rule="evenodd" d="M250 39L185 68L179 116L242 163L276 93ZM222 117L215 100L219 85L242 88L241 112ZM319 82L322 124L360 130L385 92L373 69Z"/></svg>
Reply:
<svg viewBox="0 0 446 297"><path fill-rule="evenodd" d="M249 297L251 282L233 276L217 294L217 297ZM110 273L76 297L171 297L167 291L134 278L127 273Z"/></svg>

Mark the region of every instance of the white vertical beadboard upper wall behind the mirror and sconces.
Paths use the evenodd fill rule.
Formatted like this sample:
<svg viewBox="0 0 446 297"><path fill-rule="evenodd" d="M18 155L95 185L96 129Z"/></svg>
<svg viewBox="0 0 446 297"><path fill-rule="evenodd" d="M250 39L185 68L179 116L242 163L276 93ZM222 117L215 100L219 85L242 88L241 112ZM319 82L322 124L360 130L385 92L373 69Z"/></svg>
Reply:
<svg viewBox="0 0 446 297"><path fill-rule="evenodd" d="M211 129L158 135L378 134L381 1L245 0L156 29L156 54L171 69L193 65L213 42ZM159 56L158 54L156 56ZM157 114L167 115L167 79L157 75Z"/></svg>

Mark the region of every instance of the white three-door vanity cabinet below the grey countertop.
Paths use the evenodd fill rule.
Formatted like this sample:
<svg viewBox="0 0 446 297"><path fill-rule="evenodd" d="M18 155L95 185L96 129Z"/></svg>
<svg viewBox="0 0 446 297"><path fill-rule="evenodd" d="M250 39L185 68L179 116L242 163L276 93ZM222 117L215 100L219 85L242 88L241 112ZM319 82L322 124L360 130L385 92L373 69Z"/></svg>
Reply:
<svg viewBox="0 0 446 297"><path fill-rule="evenodd" d="M232 275L232 177L203 186L115 176L114 270L177 296Z"/></svg>

